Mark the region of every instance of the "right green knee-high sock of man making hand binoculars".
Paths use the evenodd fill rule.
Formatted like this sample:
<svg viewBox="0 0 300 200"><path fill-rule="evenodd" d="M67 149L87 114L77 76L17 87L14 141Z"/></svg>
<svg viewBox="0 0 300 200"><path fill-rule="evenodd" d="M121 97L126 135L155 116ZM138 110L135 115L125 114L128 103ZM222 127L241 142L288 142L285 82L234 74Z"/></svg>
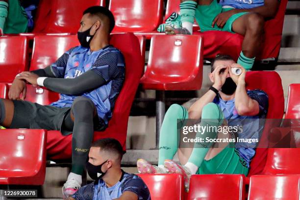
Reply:
<svg viewBox="0 0 300 200"><path fill-rule="evenodd" d="M224 116L221 108L215 103L208 103L203 107L202 114L201 114L201 122L200 126L220 126L224 121ZM203 134L198 132L196 137L200 138L216 138L218 132L216 132L213 128L210 131L206 131ZM188 160L188 162L195 164L196 166L200 167L202 161L205 158L205 155L209 148L212 146L213 143L196 143L192 154Z"/></svg>

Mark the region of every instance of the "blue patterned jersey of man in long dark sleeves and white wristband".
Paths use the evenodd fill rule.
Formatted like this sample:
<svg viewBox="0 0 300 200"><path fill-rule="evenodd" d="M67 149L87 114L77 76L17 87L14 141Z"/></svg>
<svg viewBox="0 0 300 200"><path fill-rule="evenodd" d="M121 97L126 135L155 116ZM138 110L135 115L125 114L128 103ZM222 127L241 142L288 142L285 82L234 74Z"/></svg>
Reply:
<svg viewBox="0 0 300 200"><path fill-rule="evenodd" d="M94 102L98 116L107 125L125 78L124 57L113 46L92 52L89 48L77 46L65 52L51 65L51 71L57 78L75 78L88 70L93 70L105 79L105 84L81 95L61 94L60 99L51 105L71 107L76 97L89 98Z"/></svg>

